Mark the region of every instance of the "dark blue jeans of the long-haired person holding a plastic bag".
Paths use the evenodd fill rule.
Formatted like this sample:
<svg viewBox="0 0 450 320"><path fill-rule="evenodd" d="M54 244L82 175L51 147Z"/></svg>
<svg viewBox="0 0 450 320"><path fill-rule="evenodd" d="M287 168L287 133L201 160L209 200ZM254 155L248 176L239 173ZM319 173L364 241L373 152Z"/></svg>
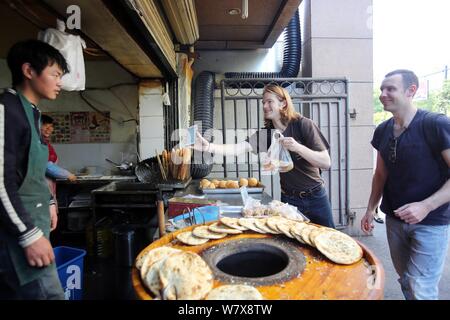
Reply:
<svg viewBox="0 0 450 320"><path fill-rule="evenodd" d="M296 206L298 210L307 216L311 222L322 226L334 228L333 215L330 201L324 187L313 191L308 197L291 196L281 194L281 201Z"/></svg>

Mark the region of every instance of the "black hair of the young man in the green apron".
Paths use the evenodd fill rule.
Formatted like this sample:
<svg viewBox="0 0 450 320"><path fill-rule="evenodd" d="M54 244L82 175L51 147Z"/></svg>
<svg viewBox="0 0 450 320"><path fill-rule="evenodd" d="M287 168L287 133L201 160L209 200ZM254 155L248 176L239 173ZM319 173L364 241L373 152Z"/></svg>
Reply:
<svg viewBox="0 0 450 320"><path fill-rule="evenodd" d="M11 70L12 85L16 87L23 83L22 65L29 63L38 75L47 66L56 63L63 73L69 72L69 66L64 56L55 47L39 40L26 40L16 43L9 49L7 57Z"/></svg>

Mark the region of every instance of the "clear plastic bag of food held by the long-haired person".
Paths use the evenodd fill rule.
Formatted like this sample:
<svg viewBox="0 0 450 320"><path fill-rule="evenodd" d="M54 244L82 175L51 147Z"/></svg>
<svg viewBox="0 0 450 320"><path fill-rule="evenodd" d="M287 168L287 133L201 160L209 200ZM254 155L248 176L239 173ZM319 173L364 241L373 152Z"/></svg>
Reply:
<svg viewBox="0 0 450 320"><path fill-rule="evenodd" d="M266 154L262 155L263 171L261 174L269 175L278 172L288 172L294 168L291 154L280 143L283 134L275 130L272 135L272 144Z"/></svg>

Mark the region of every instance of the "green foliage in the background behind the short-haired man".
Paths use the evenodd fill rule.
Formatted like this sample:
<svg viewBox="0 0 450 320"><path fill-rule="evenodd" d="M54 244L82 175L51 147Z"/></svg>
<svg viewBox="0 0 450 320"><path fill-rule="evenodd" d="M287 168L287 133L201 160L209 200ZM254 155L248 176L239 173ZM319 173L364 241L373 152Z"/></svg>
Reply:
<svg viewBox="0 0 450 320"><path fill-rule="evenodd" d="M384 111L383 105L379 100L379 89L373 92L373 120L375 125L379 125L384 120L389 119L392 114ZM442 89L431 92L427 100L414 101L414 104L424 110L444 113L450 116L450 80L445 81Z"/></svg>

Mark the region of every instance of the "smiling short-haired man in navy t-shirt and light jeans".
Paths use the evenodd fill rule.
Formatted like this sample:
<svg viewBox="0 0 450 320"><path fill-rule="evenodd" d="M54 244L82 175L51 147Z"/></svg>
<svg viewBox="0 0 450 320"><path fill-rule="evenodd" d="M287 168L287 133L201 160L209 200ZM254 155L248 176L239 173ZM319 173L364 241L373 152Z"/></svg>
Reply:
<svg viewBox="0 0 450 320"><path fill-rule="evenodd" d="M450 224L450 119L414 107L417 76L409 70L386 75L380 101L393 117L380 124L378 151L362 230L373 228L383 197L394 267L406 299L438 299Z"/></svg>

